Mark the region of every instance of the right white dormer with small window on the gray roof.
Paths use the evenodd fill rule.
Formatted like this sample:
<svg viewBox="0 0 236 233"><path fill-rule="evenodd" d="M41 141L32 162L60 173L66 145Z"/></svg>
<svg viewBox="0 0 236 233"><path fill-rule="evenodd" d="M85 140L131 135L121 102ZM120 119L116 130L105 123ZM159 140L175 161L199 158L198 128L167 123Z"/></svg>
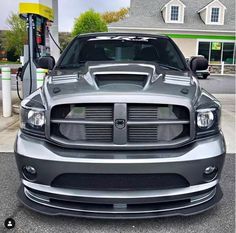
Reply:
<svg viewBox="0 0 236 233"><path fill-rule="evenodd" d="M208 25L224 25L226 7L214 0L198 11L202 21Z"/></svg>

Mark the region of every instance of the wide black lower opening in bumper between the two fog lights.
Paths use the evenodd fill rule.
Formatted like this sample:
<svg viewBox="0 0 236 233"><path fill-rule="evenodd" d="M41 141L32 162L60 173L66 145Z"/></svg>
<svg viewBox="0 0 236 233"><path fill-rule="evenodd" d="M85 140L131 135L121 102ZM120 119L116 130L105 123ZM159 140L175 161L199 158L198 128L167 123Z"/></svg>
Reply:
<svg viewBox="0 0 236 233"><path fill-rule="evenodd" d="M81 190L158 190L188 187L178 174L79 174L56 177L53 187Z"/></svg>

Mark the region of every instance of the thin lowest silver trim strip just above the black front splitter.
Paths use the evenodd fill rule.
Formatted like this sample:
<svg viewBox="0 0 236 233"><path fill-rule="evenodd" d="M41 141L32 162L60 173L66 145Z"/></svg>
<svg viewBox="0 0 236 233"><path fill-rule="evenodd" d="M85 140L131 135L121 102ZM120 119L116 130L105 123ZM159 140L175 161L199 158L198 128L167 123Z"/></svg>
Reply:
<svg viewBox="0 0 236 233"><path fill-rule="evenodd" d="M214 195L216 193L216 189L206 193L203 198L200 198L198 201L195 201L195 202L190 202L190 203L187 203L185 205L178 206L178 207L163 208L163 209L150 209L150 210L128 210L126 208L124 208L124 209L113 209L113 210L96 210L96 209L91 210L91 209L82 209L82 208L81 209L68 208L68 207L63 207L63 206L59 206L59 205L55 205L55 204L51 204L50 202L47 202L47 197L45 197L45 200L44 199L37 199L37 195L35 195L31 191L27 190L26 188L24 188L24 192L25 192L25 195L31 201L34 201L34 202L36 202L38 204L41 204L41 205L44 205L44 206L48 206L48 207L52 207L52 208L58 208L58 209L62 209L62 210L87 212L87 213L101 213L101 214L102 213L109 213L109 214L130 214L130 213L142 214L142 213L155 213L155 212L179 210L179 209L185 209L185 208L189 208L189 207L193 207L193 206L203 204L203 203L211 200L214 197ZM197 197L198 196L196 196L196 200L197 200Z"/></svg>

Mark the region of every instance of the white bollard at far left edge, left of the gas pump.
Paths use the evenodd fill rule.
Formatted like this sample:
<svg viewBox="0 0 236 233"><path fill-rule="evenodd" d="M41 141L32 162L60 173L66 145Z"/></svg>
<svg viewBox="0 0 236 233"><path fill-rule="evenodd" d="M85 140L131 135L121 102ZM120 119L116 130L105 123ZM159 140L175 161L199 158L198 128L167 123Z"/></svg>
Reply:
<svg viewBox="0 0 236 233"><path fill-rule="evenodd" d="M10 117L11 106L11 69L2 67L2 113L3 117Z"/></svg>

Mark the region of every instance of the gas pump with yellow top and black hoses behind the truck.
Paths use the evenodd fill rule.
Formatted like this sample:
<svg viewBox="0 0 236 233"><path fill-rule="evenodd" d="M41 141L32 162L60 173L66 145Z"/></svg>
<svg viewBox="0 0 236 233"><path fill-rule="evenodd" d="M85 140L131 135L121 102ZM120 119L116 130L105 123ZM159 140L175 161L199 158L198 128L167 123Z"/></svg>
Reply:
<svg viewBox="0 0 236 233"><path fill-rule="evenodd" d="M50 55L49 27L53 21L52 0L25 0L19 4L20 17L27 22L24 66L18 76L23 82L23 98L37 89L37 60Z"/></svg>

